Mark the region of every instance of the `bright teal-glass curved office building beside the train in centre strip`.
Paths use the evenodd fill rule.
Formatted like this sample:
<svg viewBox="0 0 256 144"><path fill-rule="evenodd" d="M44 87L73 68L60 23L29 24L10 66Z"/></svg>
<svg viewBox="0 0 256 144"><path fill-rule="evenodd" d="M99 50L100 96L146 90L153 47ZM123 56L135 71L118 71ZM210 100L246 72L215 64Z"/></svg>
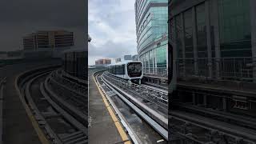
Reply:
<svg viewBox="0 0 256 144"><path fill-rule="evenodd" d="M144 72L166 74L168 1L136 0L134 8L138 58Z"/></svg>

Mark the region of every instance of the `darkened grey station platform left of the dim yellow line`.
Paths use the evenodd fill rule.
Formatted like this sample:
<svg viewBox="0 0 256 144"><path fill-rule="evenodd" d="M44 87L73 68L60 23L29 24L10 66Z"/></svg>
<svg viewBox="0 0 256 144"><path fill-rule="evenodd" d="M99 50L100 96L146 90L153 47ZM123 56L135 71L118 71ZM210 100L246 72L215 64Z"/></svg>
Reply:
<svg viewBox="0 0 256 144"><path fill-rule="evenodd" d="M39 144L38 134L15 90L14 78L7 77L4 89L2 143Z"/></svg>

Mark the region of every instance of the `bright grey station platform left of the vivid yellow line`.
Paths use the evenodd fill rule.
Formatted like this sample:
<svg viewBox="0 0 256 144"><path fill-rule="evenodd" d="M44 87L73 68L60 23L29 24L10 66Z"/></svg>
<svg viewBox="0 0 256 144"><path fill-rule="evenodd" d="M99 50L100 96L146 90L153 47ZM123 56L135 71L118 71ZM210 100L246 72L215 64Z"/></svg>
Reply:
<svg viewBox="0 0 256 144"><path fill-rule="evenodd" d="M94 82L94 72L89 70L89 143L124 143Z"/></svg>

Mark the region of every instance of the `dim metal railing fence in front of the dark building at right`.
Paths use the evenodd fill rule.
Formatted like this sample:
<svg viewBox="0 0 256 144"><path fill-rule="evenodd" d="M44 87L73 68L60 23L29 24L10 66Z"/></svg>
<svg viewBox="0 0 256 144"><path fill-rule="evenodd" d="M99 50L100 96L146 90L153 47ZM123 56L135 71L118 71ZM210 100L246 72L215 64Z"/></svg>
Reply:
<svg viewBox="0 0 256 144"><path fill-rule="evenodd" d="M253 58L181 58L176 66L178 78L256 80Z"/></svg>

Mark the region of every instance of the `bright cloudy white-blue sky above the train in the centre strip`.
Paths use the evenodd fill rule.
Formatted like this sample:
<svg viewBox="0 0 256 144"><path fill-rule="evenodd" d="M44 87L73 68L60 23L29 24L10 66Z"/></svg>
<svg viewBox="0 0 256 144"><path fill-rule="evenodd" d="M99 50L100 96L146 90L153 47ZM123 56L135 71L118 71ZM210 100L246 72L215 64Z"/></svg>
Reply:
<svg viewBox="0 0 256 144"><path fill-rule="evenodd" d="M137 54L135 0L90 0L88 3L89 65L98 58Z"/></svg>

